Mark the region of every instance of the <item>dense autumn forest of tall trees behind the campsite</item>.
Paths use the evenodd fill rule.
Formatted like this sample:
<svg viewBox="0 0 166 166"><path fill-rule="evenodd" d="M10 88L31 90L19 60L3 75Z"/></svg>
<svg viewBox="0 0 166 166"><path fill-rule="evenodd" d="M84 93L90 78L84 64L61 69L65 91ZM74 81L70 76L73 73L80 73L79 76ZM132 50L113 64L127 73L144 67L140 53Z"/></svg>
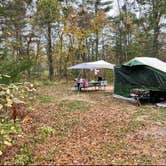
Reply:
<svg viewBox="0 0 166 166"><path fill-rule="evenodd" d="M79 62L166 60L165 16L165 0L1 0L0 73L53 80Z"/></svg>

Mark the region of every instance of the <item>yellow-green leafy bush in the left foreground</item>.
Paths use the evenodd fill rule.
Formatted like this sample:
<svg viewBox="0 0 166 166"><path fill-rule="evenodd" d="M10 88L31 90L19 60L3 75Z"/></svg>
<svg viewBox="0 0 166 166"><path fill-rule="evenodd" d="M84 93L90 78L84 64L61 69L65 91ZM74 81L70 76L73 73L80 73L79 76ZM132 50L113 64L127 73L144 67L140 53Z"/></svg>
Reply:
<svg viewBox="0 0 166 166"><path fill-rule="evenodd" d="M1 75L1 78L9 77ZM10 79L10 77L9 77ZM31 99L35 88L33 84L25 82L23 84L0 84L0 155L6 151L8 146L12 146L11 135L21 136L19 123L9 121L8 110L11 112L13 104L24 103L25 99Z"/></svg>

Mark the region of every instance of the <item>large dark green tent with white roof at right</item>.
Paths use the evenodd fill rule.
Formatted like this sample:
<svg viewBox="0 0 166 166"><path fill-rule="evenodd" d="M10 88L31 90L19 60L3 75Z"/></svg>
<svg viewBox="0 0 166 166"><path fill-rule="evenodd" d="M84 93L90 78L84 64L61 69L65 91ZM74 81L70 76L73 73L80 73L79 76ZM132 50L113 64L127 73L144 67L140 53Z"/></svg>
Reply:
<svg viewBox="0 0 166 166"><path fill-rule="evenodd" d="M164 92L166 63L150 57L137 57L114 68L114 97L129 98L132 89Z"/></svg>

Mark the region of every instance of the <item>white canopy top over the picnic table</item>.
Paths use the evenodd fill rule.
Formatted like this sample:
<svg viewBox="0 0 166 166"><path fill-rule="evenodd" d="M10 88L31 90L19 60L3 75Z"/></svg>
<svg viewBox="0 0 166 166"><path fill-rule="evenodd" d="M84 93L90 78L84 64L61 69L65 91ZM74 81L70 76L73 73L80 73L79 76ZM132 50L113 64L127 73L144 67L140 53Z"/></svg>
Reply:
<svg viewBox="0 0 166 166"><path fill-rule="evenodd" d="M108 63L104 60L95 62L80 63L69 67L68 69L113 69L114 64Z"/></svg>

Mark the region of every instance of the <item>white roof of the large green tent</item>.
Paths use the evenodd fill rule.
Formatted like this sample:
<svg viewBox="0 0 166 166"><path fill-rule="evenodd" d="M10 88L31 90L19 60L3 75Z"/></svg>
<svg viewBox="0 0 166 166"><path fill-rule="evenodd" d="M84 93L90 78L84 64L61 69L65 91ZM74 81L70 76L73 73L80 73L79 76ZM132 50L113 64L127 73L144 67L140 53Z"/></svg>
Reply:
<svg viewBox="0 0 166 166"><path fill-rule="evenodd" d="M166 63L157 58L137 57L124 64L124 66L130 67L138 65L150 66L166 73Z"/></svg>

